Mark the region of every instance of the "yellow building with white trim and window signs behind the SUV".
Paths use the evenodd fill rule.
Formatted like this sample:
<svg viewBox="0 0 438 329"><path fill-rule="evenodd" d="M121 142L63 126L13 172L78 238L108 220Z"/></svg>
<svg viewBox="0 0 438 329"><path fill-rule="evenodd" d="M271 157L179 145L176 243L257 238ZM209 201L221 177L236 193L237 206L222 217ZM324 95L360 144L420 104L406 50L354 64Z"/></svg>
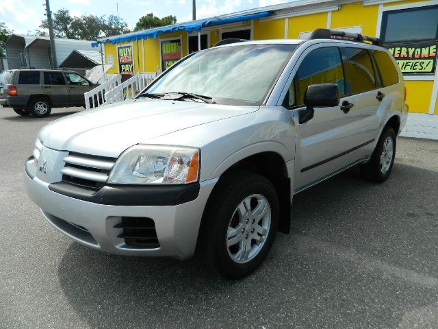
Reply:
<svg viewBox="0 0 438 329"><path fill-rule="evenodd" d="M157 72L224 38L305 39L319 27L381 38L406 81L405 135L438 138L438 0L300 0L113 36L94 47L105 47L105 62L112 65L108 73Z"/></svg>

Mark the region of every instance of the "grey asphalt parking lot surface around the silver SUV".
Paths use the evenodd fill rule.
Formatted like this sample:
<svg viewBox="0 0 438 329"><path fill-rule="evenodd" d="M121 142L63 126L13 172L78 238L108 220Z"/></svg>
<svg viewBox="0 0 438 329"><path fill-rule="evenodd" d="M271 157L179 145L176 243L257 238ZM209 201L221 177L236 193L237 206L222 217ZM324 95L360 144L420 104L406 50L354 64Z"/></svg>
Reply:
<svg viewBox="0 0 438 329"><path fill-rule="evenodd" d="M357 168L294 197L292 234L235 282L196 260L103 254L55 232L23 166L50 117L0 107L0 328L438 328L438 141L398 139L384 184Z"/></svg>

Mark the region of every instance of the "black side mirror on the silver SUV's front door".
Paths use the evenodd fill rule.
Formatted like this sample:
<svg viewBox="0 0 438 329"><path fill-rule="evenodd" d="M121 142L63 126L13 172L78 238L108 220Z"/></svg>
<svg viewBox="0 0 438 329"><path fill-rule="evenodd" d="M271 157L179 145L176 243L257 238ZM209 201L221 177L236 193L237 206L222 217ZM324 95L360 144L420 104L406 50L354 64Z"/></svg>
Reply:
<svg viewBox="0 0 438 329"><path fill-rule="evenodd" d="M339 86L337 84L311 84L304 94L305 110L300 110L300 123L313 118L313 108L326 108L339 105Z"/></svg>

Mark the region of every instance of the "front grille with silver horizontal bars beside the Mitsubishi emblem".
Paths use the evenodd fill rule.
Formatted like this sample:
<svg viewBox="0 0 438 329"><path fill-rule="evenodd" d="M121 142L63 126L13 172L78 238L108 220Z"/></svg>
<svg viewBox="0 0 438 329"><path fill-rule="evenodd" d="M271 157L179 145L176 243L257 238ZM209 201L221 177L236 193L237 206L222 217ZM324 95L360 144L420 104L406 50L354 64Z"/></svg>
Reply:
<svg viewBox="0 0 438 329"><path fill-rule="evenodd" d="M108 180L116 158L70 152L64 162L66 165L61 169L63 182L101 188Z"/></svg>

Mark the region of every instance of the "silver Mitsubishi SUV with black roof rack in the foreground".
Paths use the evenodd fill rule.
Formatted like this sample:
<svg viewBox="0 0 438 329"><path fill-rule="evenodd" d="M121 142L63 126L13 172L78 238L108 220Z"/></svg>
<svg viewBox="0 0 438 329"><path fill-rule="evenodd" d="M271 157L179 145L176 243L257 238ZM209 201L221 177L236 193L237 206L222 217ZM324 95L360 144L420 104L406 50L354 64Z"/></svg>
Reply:
<svg viewBox="0 0 438 329"><path fill-rule="evenodd" d="M196 252L225 278L246 276L289 232L294 194L355 164L373 182L391 172L403 77L364 39L378 44L320 29L198 51L137 99L42 128L27 193L88 247Z"/></svg>

